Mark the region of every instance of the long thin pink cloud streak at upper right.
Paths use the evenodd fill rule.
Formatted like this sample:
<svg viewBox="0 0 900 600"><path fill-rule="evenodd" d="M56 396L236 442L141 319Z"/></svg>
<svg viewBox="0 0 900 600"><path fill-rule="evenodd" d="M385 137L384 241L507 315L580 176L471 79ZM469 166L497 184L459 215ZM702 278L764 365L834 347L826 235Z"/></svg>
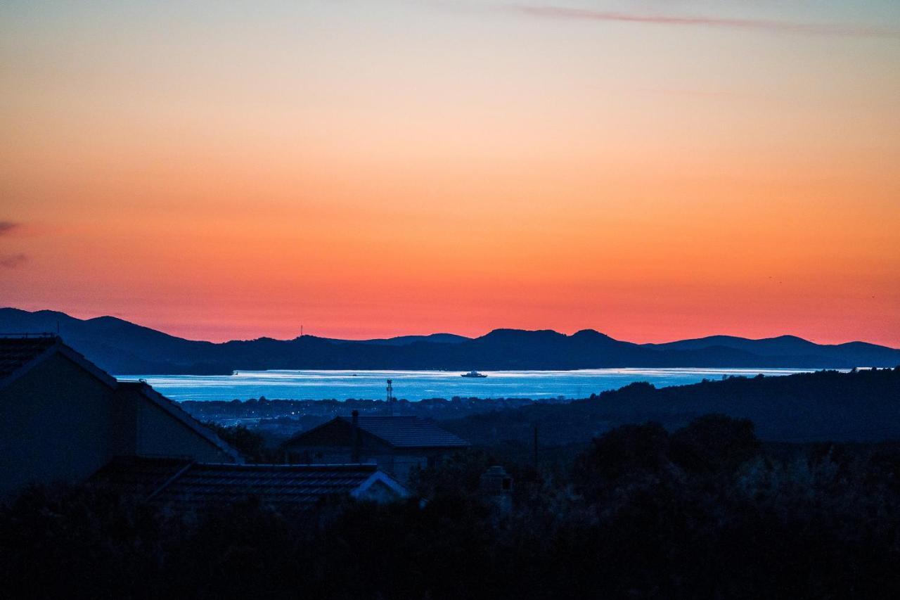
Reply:
<svg viewBox="0 0 900 600"><path fill-rule="evenodd" d="M770 21L764 19L725 19L718 17L679 16L668 14L633 14L540 5L512 5L511 8L518 13L555 19L609 21L618 23L652 23L659 25L683 25L695 27L722 27L731 29L760 30L765 32L803 33L808 35L835 35L900 39L900 31L896 29L887 29L884 27L875 27L870 25L795 23L789 21Z"/></svg>

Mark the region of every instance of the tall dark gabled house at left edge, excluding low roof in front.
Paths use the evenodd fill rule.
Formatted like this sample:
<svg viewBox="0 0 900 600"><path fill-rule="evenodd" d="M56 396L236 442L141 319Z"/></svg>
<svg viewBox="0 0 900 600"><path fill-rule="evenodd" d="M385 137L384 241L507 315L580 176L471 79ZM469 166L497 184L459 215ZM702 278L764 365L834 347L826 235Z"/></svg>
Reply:
<svg viewBox="0 0 900 600"><path fill-rule="evenodd" d="M242 462L175 402L117 381L58 336L0 338L0 497L85 481L117 456Z"/></svg>

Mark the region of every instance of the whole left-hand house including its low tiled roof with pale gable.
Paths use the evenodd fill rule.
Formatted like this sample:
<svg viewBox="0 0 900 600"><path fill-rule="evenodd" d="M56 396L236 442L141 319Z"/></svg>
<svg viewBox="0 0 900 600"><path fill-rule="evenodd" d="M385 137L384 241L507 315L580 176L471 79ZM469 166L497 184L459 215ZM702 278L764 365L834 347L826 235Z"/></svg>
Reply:
<svg viewBox="0 0 900 600"><path fill-rule="evenodd" d="M294 512L329 496L409 495L374 464L242 463L177 403L142 381L117 381L58 336L0 338L0 498L84 481L172 511L254 497Z"/></svg>

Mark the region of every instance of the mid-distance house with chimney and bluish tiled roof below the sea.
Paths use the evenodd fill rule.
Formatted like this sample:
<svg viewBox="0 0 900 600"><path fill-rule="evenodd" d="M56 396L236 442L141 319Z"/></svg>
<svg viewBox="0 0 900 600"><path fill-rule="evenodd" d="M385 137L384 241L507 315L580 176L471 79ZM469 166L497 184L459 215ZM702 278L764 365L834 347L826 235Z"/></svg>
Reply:
<svg viewBox="0 0 900 600"><path fill-rule="evenodd" d="M410 469L434 465L469 442L416 416L338 416L284 442L290 461L374 462L401 482Z"/></svg>

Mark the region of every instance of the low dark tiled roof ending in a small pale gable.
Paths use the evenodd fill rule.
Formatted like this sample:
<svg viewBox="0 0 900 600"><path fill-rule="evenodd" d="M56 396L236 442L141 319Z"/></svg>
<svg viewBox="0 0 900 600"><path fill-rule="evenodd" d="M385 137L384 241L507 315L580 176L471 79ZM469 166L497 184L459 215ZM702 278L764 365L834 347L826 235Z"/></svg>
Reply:
<svg viewBox="0 0 900 600"><path fill-rule="evenodd" d="M284 511L304 510L331 495L365 495L377 484L399 497L409 495L376 465L234 465L128 457L112 460L91 482L175 510L229 505L249 497Z"/></svg>

